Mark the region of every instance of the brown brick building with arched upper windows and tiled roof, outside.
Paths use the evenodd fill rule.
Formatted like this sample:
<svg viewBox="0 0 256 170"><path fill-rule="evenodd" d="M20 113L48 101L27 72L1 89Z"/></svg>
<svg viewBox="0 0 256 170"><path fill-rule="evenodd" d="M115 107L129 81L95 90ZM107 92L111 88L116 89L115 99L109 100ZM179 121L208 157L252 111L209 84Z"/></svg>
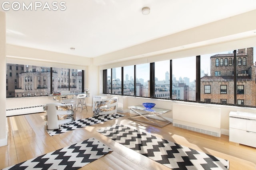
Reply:
<svg viewBox="0 0 256 170"><path fill-rule="evenodd" d="M210 57L210 75L201 78L201 101L223 104L256 106L256 67L253 48L239 49L234 54L217 54ZM234 74L236 64L236 74ZM234 101L234 76L237 90Z"/></svg>

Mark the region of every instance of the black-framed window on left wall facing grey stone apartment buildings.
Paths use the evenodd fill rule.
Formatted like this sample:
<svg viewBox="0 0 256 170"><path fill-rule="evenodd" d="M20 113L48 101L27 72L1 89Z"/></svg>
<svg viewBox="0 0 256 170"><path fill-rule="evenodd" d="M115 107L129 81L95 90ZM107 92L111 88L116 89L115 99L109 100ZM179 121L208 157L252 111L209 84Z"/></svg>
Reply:
<svg viewBox="0 0 256 170"><path fill-rule="evenodd" d="M12 70L17 75L16 77L7 76L8 90L6 96L8 97L32 97L32 96L48 96L53 92L70 91L70 93L82 92L82 70L68 69L68 68L50 68L44 66L31 66L22 64L6 64L7 68L10 66L16 68ZM51 77L52 69L52 77ZM73 70L73 71L71 71ZM63 78L69 79L68 75L63 75L63 71L71 72L73 75L70 78L73 82L63 82ZM58 81L54 81L58 80ZM52 83L52 87L51 87Z"/></svg>

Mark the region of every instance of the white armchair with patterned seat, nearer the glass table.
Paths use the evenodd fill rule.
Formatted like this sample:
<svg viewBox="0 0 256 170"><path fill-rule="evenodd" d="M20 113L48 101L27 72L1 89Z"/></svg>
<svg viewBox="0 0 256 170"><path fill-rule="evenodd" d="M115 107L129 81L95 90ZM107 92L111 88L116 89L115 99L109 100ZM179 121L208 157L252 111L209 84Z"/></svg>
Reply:
<svg viewBox="0 0 256 170"><path fill-rule="evenodd" d="M118 106L118 97L113 97L111 99L106 99L103 101L94 102L94 114L107 115L113 114L116 115Z"/></svg>

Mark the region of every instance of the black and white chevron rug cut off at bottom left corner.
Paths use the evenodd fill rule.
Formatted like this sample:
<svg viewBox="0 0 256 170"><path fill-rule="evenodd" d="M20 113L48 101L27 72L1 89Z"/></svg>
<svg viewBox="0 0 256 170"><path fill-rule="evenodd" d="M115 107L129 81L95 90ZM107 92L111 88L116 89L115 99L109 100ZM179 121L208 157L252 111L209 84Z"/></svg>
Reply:
<svg viewBox="0 0 256 170"><path fill-rule="evenodd" d="M100 141L90 138L3 170L77 170L111 151Z"/></svg>

